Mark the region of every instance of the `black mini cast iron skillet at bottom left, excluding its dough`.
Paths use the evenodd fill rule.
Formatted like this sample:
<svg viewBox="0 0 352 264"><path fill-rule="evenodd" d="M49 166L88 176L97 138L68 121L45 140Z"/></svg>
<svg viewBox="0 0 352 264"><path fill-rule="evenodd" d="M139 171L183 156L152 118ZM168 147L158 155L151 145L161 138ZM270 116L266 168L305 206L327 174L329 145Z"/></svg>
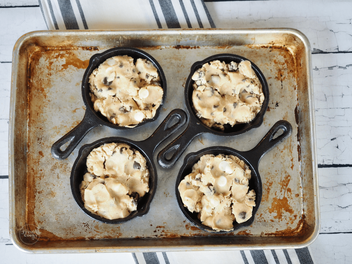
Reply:
<svg viewBox="0 0 352 264"><path fill-rule="evenodd" d="M169 127L174 119L177 119L176 124ZM155 130L155 132L147 139L143 141L136 142L127 138L121 137L109 137L97 140L91 144L83 145L78 152L78 157L73 164L71 170L71 191L77 205L81 210L94 220L106 223L106 224L121 224L136 218L137 216L145 215L150 208L150 203L154 197L156 187L157 187L157 170L153 162L153 154L157 146L163 142L166 138L175 133L179 128L181 128L187 121L187 114L181 109L175 109L170 112L170 114L165 118L161 125ZM130 145L133 149L138 150L146 159L147 167L149 169L149 192L141 197L137 202L137 210L132 212L126 218L109 220L103 218L99 215L89 212L85 207L81 198L80 193L80 183L83 180L83 175L87 171L87 156L89 153L106 143L125 143Z"/></svg>

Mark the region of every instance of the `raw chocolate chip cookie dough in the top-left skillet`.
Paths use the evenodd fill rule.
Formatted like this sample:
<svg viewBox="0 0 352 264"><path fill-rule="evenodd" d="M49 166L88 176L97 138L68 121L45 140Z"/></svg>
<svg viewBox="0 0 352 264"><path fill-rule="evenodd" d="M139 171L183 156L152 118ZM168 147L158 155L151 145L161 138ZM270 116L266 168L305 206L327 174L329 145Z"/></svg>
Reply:
<svg viewBox="0 0 352 264"><path fill-rule="evenodd" d="M146 59L115 56L89 76L94 110L113 124L134 127L155 116L163 98L157 69Z"/></svg>

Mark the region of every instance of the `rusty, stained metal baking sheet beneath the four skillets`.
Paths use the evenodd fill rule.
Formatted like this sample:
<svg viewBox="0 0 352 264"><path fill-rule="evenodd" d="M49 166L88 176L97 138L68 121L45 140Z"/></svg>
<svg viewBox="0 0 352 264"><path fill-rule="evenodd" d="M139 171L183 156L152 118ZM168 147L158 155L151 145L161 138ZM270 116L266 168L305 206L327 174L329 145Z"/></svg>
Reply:
<svg viewBox="0 0 352 264"><path fill-rule="evenodd" d="M54 159L51 145L83 118L81 81L89 58L115 46L145 50L161 64L168 94L159 119L131 131L94 128L68 159ZM143 217L108 225L81 212L69 181L78 149L107 136L149 137L172 109L186 110L183 86L191 65L219 53L244 56L266 76L270 101L263 125L232 138L203 134L174 168L157 165L157 192ZM14 244L36 253L272 249L310 244L320 225L311 67L308 40L290 29L43 31L23 36L14 49L11 95L10 232ZM210 235L190 225L174 193L184 156L212 145L250 150L281 119L292 124L293 134L260 162L263 199L254 223L224 235ZM31 245L21 240L26 224L40 233Z"/></svg>

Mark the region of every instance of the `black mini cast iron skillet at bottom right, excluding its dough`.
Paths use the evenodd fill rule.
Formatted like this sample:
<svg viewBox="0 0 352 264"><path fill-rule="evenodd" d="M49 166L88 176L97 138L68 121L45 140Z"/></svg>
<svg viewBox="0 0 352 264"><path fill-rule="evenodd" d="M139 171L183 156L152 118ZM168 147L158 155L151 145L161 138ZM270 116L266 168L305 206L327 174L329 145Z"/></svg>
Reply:
<svg viewBox="0 0 352 264"><path fill-rule="evenodd" d="M278 137L274 138L275 134L280 130L283 130L283 133ZM241 227L250 226L253 224L254 216L258 210L260 200L262 200L262 181L260 180L260 175L258 171L258 166L260 159L270 150L272 150L275 146L283 142L286 138L288 138L292 133L292 126L289 122L285 120L280 120L276 122L276 124L269 130L269 132L265 135L265 137L258 143L256 147L249 151L238 151L235 149L231 149L230 147L223 146L213 146L207 147L206 149L200 150L198 152L193 152L187 154L184 158L184 163L178 173L176 180L176 198L178 205L183 213L183 215L187 218L191 224L200 228L203 231L207 231L210 233L228 233L232 231L215 231L211 227L205 226L201 223L201 221L197 218L198 213L191 213L186 207L183 206L183 202L180 196L180 192L178 191L178 185L184 179L184 177L192 172L192 167L195 163L200 160L200 157L206 154L213 155L234 155L243 160L247 165L249 165L251 169L251 180L249 181L249 190L254 190L256 192L256 206L253 207L252 217L238 224L236 221L233 222L233 231L237 230Z"/></svg>

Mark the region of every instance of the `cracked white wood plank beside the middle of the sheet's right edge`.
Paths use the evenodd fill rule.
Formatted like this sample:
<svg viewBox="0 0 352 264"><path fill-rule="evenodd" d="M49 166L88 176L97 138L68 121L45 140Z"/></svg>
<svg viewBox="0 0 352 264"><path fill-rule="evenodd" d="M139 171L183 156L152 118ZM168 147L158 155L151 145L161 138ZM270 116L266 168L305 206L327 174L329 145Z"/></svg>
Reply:
<svg viewBox="0 0 352 264"><path fill-rule="evenodd" d="M352 53L313 54L312 67L318 163L351 164Z"/></svg>

